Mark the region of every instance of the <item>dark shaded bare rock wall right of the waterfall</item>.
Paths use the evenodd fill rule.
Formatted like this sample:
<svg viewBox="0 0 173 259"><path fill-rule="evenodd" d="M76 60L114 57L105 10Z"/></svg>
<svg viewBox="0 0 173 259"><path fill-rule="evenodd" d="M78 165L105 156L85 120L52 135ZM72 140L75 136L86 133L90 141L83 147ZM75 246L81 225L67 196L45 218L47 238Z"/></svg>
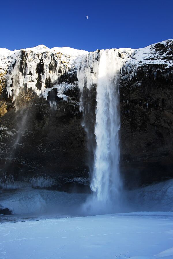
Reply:
<svg viewBox="0 0 173 259"><path fill-rule="evenodd" d="M173 177L173 82L163 68L140 67L131 80L121 78L121 170L129 186Z"/></svg>

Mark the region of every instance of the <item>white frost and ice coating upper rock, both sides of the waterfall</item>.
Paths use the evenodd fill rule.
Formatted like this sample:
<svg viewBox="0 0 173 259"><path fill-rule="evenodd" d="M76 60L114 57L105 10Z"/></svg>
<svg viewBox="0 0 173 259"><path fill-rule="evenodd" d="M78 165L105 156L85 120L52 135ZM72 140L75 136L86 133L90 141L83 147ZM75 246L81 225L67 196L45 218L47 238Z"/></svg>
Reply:
<svg viewBox="0 0 173 259"><path fill-rule="evenodd" d="M173 40L170 39L157 44L160 44L163 46L163 49L167 50L170 45L172 46ZM121 54L122 63L125 63L124 69L128 72L130 78L136 75L138 68L147 65L163 65L163 69L161 70L163 77L166 77L168 73L173 74L173 60L170 58L169 52L162 52L162 50L156 49L155 46L156 44L140 49L118 49L118 52ZM22 55L24 55L27 64L26 67L22 67L22 69L25 69L25 73L23 74L20 71ZM98 55L98 50L95 52L87 52L69 47L53 47L50 49L44 45L14 51L0 49L0 72L7 72L5 75L7 78L6 91L8 96L13 96L13 100L15 100L15 95L18 95L24 84L27 84L28 88L32 88L40 97L42 96L47 99L48 91L54 88L54 86L52 88L46 88L46 80L48 80L51 85L57 84L60 75L66 73L70 76L72 73L80 70L80 66L82 64L84 65L84 60L86 60L89 66L87 65L85 68L82 67L85 74L82 75L82 78L78 78L79 87L81 88L84 84L85 77L89 78L88 75L90 75L91 82L87 82L87 87L90 88L96 81L95 75L97 74L98 66L96 62L93 63L93 60L97 59ZM36 85L38 79L38 63L44 66L44 73L41 74L41 89L38 89ZM52 69L50 69L49 66ZM92 73L91 67L93 68ZM154 71L154 78L157 77L158 71L158 69ZM10 87L12 77L15 82L13 82L13 86ZM63 96L63 99L67 100L67 97Z"/></svg>

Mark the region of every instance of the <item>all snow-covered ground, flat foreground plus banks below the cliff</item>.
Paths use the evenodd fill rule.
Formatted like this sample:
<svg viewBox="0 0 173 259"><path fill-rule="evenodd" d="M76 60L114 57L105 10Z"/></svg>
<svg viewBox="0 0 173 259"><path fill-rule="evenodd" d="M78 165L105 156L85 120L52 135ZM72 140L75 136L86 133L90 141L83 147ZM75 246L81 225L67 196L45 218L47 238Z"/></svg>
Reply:
<svg viewBox="0 0 173 259"><path fill-rule="evenodd" d="M128 213L83 216L89 196L1 192L0 208L13 215L0 216L0 259L173 258L173 179L126 192Z"/></svg>

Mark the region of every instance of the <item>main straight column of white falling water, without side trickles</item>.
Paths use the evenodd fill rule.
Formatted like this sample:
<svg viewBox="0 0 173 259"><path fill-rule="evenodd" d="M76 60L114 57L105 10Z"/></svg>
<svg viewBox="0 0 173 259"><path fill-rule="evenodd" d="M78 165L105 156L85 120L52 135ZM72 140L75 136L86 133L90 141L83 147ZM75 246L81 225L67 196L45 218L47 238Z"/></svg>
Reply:
<svg viewBox="0 0 173 259"><path fill-rule="evenodd" d="M119 192L119 63L114 49L102 51L99 61L96 109L95 168L91 189L98 201L107 202Z"/></svg>

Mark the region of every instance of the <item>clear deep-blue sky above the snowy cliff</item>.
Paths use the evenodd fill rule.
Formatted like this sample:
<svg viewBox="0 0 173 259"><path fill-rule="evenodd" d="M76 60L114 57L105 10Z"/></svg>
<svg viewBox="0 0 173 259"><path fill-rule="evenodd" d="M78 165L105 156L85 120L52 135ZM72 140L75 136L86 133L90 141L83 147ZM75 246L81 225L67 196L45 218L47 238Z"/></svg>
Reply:
<svg viewBox="0 0 173 259"><path fill-rule="evenodd" d="M3 0L0 8L0 47L11 50L139 48L173 38L173 0Z"/></svg>

